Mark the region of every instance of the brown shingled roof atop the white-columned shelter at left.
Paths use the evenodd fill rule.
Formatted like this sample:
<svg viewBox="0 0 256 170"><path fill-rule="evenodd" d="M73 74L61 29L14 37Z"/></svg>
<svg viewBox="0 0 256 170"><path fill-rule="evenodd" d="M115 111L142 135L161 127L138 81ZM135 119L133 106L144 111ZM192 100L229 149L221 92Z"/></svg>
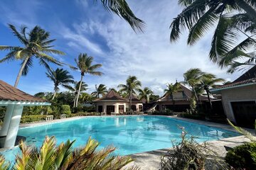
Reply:
<svg viewBox="0 0 256 170"><path fill-rule="evenodd" d="M14 86L0 80L0 101L28 101L28 102L46 102L42 98L26 94L16 89Z"/></svg>

